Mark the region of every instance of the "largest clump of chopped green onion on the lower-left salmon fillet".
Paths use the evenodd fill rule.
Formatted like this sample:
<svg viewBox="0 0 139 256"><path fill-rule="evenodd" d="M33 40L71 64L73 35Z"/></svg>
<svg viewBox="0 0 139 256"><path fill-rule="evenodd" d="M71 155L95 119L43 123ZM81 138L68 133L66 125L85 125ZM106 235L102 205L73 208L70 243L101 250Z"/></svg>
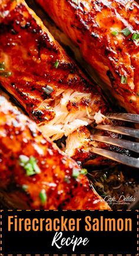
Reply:
<svg viewBox="0 0 139 256"><path fill-rule="evenodd" d="M27 176L41 173L34 156L28 158L28 156L20 155L19 164L25 169Z"/></svg>

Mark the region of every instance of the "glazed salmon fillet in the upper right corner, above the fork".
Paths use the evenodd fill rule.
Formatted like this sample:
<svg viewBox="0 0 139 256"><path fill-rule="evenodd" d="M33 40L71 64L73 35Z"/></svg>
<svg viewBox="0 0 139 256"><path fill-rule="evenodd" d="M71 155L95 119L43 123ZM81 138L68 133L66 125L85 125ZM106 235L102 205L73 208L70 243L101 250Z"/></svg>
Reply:
<svg viewBox="0 0 139 256"><path fill-rule="evenodd" d="M139 5L133 0L37 0L80 47L118 102L139 114Z"/></svg>

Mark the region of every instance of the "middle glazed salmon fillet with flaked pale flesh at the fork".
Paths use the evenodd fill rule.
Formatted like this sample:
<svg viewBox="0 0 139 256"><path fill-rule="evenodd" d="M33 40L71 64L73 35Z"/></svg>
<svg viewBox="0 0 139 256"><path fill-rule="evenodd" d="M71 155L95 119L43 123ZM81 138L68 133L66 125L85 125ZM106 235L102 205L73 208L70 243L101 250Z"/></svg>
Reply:
<svg viewBox="0 0 139 256"><path fill-rule="evenodd" d="M0 82L42 132L81 163L110 162L92 146L128 153L90 140L89 126L109 123L104 115L110 107L27 4L5 0L0 13Z"/></svg>

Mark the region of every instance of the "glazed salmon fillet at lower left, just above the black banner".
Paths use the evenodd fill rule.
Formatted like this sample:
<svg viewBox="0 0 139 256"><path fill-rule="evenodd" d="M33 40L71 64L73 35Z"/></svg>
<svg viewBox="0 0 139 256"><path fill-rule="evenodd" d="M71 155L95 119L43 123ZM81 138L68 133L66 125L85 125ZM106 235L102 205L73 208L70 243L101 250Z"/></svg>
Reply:
<svg viewBox="0 0 139 256"><path fill-rule="evenodd" d="M0 96L0 196L18 209L109 209L77 163Z"/></svg>

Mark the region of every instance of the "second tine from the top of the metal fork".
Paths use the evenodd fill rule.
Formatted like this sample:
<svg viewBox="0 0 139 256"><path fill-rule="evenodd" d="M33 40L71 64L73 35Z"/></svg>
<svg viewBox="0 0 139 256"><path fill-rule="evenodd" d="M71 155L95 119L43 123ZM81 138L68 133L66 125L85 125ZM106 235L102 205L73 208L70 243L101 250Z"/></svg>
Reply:
<svg viewBox="0 0 139 256"><path fill-rule="evenodd" d="M127 128L127 127L122 127L122 126L112 126L112 125L103 125L103 124L98 124L95 129L101 129L101 130L107 130L109 132L114 132L114 133L121 133L122 135L128 135L131 137L139 138L139 130L133 129L133 128Z"/></svg>

